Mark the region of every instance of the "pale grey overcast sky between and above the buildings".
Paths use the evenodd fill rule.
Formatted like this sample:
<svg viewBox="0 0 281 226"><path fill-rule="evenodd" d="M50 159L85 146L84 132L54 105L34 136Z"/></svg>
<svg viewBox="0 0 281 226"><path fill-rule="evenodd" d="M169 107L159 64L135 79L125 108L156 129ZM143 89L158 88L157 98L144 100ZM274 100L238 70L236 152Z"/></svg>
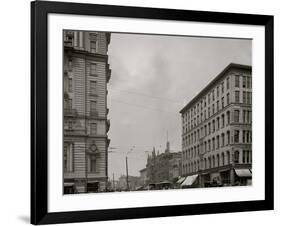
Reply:
<svg viewBox="0 0 281 226"><path fill-rule="evenodd" d="M109 177L139 175L153 147L181 151L179 111L229 63L251 65L252 42L113 33L108 84Z"/></svg>

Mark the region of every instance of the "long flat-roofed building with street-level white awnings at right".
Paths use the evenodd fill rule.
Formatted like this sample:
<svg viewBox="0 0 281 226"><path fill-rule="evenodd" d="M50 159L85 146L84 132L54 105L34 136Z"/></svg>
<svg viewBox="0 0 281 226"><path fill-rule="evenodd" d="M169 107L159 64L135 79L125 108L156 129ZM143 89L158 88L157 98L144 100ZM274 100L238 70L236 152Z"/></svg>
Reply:
<svg viewBox="0 0 281 226"><path fill-rule="evenodd" d="M180 113L184 176L201 187L251 183L251 66L228 65Z"/></svg>

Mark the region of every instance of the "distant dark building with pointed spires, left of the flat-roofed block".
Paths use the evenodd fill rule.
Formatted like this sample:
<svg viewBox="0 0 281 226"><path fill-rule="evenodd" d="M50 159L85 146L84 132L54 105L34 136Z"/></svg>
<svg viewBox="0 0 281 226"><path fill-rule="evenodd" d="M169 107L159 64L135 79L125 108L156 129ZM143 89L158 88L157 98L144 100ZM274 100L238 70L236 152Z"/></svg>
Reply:
<svg viewBox="0 0 281 226"><path fill-rule="evenodd" d="M167 141L164 153L156 154L153 148L152 154L148 155L146 163L147 183L160 183L164 181L174 182L174 176L180 175L180 152L171 152L170 143Z"/></svg>

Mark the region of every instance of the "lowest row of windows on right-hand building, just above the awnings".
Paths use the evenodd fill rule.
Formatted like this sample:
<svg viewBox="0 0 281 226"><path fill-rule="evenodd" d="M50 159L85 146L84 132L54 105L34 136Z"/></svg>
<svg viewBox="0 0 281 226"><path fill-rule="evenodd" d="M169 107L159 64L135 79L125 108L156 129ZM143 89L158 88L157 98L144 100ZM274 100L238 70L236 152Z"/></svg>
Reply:
<svg viewBox="0 0 281 226"><path fill-rule="evenodd" d="M233 156L234 163L251 163L252 152L250 150L242 151L242 160L240 159L240 151L235 151ZM183 174L197 172L198 170L210 169L228 165L231 163L230 152L222 152L221 154L212 155L203 160L193 161L187 164L183 164Z"/></svg>

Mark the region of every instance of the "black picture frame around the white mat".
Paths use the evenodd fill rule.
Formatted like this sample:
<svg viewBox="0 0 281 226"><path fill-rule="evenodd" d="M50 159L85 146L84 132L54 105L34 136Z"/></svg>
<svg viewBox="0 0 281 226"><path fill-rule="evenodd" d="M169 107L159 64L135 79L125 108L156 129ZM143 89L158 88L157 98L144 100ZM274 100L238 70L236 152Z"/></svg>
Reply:
<svg viewBox="0 0 281 226"><path fill-rule="evenodd" d="M265 27L265 199L125 209L48 212L48 14L197 21ZM52 224L193 214L272 210L273 16L63 2L31 3L31 223Z"/></svg>

